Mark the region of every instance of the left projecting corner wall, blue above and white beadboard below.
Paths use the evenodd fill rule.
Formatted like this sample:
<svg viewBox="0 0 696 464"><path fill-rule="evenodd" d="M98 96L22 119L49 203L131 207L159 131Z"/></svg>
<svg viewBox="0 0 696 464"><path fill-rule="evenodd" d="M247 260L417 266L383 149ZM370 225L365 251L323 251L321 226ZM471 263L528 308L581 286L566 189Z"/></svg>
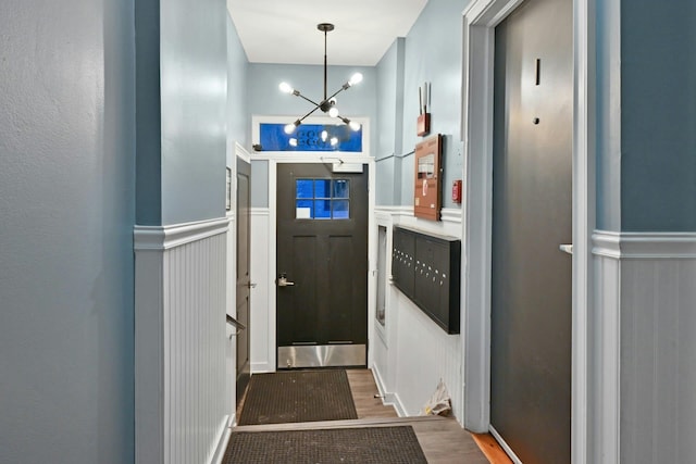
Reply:
<svg viewBox="0 0 696 464"><path fill-rule="evenodd" d="M228 114L227 88L246 57L225 2L136 7L135 459L210 462L233 409L226 167L246 114Z"/></svg>

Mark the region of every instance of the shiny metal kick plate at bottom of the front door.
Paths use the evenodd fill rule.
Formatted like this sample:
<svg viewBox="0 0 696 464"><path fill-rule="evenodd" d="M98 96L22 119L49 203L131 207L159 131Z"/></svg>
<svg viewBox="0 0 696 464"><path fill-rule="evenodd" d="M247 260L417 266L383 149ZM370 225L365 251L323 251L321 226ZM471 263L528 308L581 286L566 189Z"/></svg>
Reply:
<svg viewBox="0 0 696 464"><path fill-rule="evenodd" d="M278 368L366 366L365 344L278 347Z"/></svg>

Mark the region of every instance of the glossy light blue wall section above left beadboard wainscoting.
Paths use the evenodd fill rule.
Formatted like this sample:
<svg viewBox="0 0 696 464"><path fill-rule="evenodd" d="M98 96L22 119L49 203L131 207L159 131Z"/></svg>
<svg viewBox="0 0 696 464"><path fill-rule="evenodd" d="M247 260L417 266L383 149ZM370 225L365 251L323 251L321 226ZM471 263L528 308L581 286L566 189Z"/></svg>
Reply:
<svg viewBox="0 0 696 464"><path fill-rule="evenodd" d="M225 215L227 10L160 4L162 224Z"/></svg>

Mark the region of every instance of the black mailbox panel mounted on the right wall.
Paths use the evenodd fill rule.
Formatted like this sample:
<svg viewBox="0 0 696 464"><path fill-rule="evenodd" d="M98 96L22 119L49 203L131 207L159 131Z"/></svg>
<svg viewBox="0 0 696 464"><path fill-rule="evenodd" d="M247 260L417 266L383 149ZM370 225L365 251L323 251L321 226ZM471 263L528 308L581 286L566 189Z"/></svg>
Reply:
<svg viewBox="0 0 696 464"><path fill-rule="evenodd" d="M447 334L459 334L461 241L395 227L394 284Z"/></svg>

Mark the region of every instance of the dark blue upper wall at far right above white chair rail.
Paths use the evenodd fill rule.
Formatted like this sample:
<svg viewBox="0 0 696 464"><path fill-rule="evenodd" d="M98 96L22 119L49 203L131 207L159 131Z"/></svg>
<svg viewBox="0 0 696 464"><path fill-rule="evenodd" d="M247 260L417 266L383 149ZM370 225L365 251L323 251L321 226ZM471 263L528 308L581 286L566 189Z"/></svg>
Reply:
<svg viewBox="0 0 696 464"><path fill-rule="evenodd" d="M622 2L622 230L696 230L694 24L692 0Z"/></svg>

